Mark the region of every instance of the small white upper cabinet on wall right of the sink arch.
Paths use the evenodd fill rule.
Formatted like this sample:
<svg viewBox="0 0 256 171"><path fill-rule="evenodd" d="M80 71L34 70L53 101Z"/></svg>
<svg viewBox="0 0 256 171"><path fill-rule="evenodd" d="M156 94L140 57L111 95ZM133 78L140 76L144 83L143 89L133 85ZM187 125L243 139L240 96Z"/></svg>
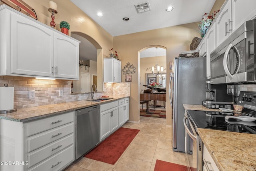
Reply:
<svg viewBox="0 0 256 171"><path fill-rule="evenodd" d="M121 61L115 58L104 58L104 82L121 82Z"/></svg>

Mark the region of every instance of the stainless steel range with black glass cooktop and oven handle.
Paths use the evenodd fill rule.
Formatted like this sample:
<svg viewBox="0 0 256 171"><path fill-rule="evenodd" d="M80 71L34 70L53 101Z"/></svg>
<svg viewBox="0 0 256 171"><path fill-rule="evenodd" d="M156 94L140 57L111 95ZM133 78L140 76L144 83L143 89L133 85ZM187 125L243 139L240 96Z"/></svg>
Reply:
<svg viewBox="0 0 256 171"><path fill-rule="evenodd" d="M238 105L244 106L241 113L227 111L187 111L187 115L184 117L184 125L186 127L185 146L188 169L193 167L197 171L202 171L203 143L198 135L198 128L256 134L256 92L240 91ZM243 121L240 116L249 117L251 120Z"/></svg>

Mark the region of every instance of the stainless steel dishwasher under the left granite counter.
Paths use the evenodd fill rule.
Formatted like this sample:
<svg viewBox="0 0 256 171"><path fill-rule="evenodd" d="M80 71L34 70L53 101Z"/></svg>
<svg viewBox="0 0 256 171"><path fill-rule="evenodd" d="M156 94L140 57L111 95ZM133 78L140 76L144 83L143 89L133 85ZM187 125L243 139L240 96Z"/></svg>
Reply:
<svg viewBox="0 0 256 171"><path fill-rule="evenodd" d="M75 112L75 157L78 159L100 142L100 106Z"/></svg>

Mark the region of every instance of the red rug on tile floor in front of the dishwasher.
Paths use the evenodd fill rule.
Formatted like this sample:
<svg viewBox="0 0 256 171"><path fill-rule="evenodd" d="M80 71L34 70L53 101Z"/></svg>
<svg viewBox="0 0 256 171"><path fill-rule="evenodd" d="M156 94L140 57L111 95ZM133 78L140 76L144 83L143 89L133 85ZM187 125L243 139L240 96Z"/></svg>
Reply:
<svg viewBox="0 0 256 171"><path fill-rule="evenodd" d="M114 165L139 131L120 127L84 157Z"/></svg>

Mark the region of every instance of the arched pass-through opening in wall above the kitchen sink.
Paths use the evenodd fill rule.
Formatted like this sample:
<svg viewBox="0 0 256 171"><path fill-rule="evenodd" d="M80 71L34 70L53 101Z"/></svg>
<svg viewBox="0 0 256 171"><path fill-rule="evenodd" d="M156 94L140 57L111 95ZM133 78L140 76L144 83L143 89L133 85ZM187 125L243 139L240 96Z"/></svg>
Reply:
<svg viewBox="0 0 256 171"><path fill-rule="evenodd" d="M97 91L103 91L102 48L92 37L82 32L71 32L71 37L81 41L79 46L79 81L73 81L71 93L88 93L97 84ZM90 81L89 84L88 81ZM94 89L95 91L95 89Z"/></svg>

